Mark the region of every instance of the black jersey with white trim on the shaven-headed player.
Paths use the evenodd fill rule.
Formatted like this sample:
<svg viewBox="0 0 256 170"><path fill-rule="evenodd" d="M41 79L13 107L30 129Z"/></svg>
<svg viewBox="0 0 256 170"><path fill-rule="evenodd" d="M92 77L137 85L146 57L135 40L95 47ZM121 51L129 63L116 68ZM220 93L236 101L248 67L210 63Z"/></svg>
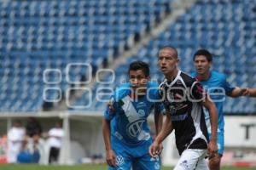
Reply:
<svg viewBox="0 0 256 170"><path fill-rule="evenodd" d="M204 91L195 78L178 71L177 77L160 83L160 95L171 113L179 154L185 149L207 149L208 134L201 100Z"/></svg>

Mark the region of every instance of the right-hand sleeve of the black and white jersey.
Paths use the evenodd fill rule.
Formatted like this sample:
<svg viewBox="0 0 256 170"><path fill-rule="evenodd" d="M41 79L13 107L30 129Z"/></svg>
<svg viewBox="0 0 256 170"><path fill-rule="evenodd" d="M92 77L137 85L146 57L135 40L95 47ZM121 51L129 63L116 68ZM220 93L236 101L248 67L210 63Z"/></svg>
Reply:
<svg viewBox="0 0 256 170"><path fill-rule="evenodd" d="M190 90L190 95L193 99L203 100L206 96L206 91L200 82L193 82Z"/></svg>

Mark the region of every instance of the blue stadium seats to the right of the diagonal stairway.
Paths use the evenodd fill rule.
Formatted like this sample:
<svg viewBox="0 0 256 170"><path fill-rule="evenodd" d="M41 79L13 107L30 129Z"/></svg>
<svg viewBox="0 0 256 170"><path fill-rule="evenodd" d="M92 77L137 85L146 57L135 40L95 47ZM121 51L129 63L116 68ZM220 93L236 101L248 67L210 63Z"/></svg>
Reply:
<svg viewBox="0 0 256 170"><path fill-rule="evenodd" d="M115 70L114 84L120 84L126 77L127 65L137 59L150 62L151 77L160 80L162 75L157 68L157 52L160 47L167 45L177 47L180 67L185 72L194 71L192 58L195 51L207 48L214 55L213 68L227 74L233 85L256 87L256 2L197 1L159 37L148 42L135 56L126 59L125 65L119 65ZM91 110L104 109L102 102L95 99L94 102ZM246 97L227 98L224 111L226 114L253 114L256 102Z"/></svg>

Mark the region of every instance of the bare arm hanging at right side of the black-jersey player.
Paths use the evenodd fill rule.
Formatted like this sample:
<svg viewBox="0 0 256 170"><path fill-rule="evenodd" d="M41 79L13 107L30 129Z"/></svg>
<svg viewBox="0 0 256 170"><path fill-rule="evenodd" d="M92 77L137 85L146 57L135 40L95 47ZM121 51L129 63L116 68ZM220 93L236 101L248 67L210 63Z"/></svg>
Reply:
<svg viewBox="0 0 256 170"><path fill-rule="evenodd" d="M207 108L210 116L212 137L208 145L208 154L211 157L211 156L214 156L218 150L218 147L217 147L218 111L215 104L212 102L209 96L207 96L206 99L203 100L202 105L204 105Z"/></svg>

